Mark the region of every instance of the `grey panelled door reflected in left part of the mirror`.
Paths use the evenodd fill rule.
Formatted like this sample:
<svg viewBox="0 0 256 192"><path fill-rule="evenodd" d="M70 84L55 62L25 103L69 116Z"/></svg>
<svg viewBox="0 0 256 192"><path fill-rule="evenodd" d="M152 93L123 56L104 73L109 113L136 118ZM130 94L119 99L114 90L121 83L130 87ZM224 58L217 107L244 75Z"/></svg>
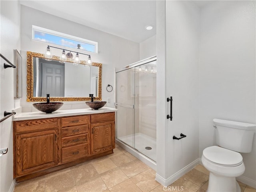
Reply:
<svg viewBox="0 0 256 192"><path fill-rule="evenodd" d="M65 66L57 61L34 58L34 96L64 97Z"/></svg>

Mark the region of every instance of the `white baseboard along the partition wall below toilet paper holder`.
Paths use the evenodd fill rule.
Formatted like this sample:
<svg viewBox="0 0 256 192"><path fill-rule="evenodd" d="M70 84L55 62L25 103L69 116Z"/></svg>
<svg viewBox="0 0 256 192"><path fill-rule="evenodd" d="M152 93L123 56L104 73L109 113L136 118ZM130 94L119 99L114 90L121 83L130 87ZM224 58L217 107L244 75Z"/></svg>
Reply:
<svg viewBox="0 0 256 192"><path fill-rule="evenodd" d="M197 164L199 163L199 158L194 160L192 163L188 164L186 167L182 168L172 176L170 176L167 179L162 178L160 175L156 174L156 181L162 184L163 186L169 186L174 181L176 181L178 178L182 177L184 174L192 170Z"/></svg>

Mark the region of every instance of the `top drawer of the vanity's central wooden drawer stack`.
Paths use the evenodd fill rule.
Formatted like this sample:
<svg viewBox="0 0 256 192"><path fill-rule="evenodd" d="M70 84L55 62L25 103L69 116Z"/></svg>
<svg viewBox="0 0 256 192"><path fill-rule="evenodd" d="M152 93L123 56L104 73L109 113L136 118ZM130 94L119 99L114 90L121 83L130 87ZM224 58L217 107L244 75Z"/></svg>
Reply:
<svg viewBox="0 0 256 192"><path fill-rule="evenodd" d="M61 126L76 126L88 124L88 115L61 118Z"/></svg>

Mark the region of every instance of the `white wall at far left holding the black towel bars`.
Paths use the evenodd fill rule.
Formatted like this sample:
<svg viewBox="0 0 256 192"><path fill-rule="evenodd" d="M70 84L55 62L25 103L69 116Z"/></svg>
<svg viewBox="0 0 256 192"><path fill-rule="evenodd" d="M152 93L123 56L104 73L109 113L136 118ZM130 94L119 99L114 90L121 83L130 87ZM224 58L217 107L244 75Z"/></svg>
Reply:
<svg viewBox="0 0 256 192"><path fill-rule="evenodd" d="M18 1L0 1L1 7L1 54L14 63L14 49L20 52L20 5ZM0 66L0 118L4 111L14 109L14 69L4 69ZM19 101L18 101L19 102ZM0 124L0 148L8 147L8 153L0 159L0 191L12 191L13 180L13 144L12 144L12 118Z"/></svg>

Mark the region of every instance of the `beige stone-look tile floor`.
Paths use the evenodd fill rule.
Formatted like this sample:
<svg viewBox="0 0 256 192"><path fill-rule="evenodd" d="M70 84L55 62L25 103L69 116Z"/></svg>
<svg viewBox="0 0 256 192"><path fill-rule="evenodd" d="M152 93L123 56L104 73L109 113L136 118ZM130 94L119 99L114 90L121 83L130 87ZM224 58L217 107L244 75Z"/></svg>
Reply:
<svg viewBox="0 0 256 192"><path fill-rule="evenodd" d="M16 184L14 192L206 192L209 172L197 165L164 188L156 172L116 145L114 154ZM239 182L241 192L256 189Z"/></svg>

